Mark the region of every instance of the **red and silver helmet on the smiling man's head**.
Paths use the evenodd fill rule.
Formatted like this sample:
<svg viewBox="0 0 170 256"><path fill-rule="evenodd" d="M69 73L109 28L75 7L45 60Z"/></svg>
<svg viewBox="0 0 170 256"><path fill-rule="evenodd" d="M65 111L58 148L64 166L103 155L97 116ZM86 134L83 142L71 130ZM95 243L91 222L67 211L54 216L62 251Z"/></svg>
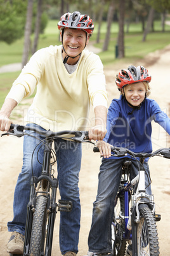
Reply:
<svg viewBox="0 0 170 256"><path fill-rule="evenodd" d="M65 13L58 22L58 29L81 29L88 34L93 34L94 24L93 20L88 15L81 15L79 11L74 13Z"/></svg>

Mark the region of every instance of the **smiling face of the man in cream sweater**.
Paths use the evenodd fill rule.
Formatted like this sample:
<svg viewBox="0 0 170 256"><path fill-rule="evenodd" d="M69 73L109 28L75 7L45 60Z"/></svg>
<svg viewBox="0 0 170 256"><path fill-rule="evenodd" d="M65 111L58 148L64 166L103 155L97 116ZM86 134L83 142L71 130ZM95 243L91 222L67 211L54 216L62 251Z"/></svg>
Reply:
<svg viewBox="0 0 170 256"><path fill-rule="evenodd" d="M89 36L86 41L86 32L77 29L65 29L63 32L63 47L65 52L71 57L75 57L82 52L89 42ZM62 41L62 34L60 33ZM70 59L70 58L69 58Z"/></svg>

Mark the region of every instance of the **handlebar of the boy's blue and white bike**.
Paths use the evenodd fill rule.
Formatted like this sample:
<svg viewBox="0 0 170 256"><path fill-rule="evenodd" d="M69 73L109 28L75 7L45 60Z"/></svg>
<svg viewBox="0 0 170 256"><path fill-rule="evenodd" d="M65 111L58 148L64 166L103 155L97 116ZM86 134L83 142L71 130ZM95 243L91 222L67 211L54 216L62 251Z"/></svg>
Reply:
<svg viewBox="0 0 170 256"><path fill-rule="evenodd" d="M98 147L95 146L93 148L93 152L99 152ZM159 148L159 150L156 150L155 152L152 152L152 153L145 153L145 152L134 153L128 148L118 148L117 146L112 146L111 152L114 153L115 157L124 157L126 155L131 155L132 157L141 157L143 159L146 159L147 157L162 155L163 157L170 159L170 148Z"/></svg>

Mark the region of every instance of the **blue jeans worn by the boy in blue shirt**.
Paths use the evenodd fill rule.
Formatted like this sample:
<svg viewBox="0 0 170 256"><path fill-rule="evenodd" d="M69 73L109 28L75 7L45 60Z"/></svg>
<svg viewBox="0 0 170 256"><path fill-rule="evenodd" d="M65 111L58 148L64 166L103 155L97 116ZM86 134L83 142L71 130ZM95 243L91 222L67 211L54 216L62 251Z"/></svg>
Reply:
<svg viewBox="0 0 170 256"><path fill-rule="evenodd" d="M98 194L93 203L93 218L89 232L89 252L108 253L112 251L112 219L114 217L114 200L121 181L121 167L125 159L102 159L98 177ZM127 159L129 160L129 159ZM131 159L131 180L138 174L138 164ZM145 169L149 172L148 164ZM146 178L145 185L148 184ZM151 194L150 186L147 193Z"/></svg>

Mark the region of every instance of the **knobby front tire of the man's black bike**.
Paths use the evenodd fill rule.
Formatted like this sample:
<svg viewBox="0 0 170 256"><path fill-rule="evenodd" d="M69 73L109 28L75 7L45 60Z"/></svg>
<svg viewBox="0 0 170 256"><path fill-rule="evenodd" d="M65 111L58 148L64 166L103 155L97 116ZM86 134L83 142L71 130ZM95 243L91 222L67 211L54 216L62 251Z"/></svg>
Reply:
<svg viewBox="0 0 170 256"><path fill-rule="evenodd" d="M34 212L32 231L30 236L30 256L44 255L44 243L46 237L47 211L46 204L48 198L45 196L37 197L36 210Z"/></svg>

